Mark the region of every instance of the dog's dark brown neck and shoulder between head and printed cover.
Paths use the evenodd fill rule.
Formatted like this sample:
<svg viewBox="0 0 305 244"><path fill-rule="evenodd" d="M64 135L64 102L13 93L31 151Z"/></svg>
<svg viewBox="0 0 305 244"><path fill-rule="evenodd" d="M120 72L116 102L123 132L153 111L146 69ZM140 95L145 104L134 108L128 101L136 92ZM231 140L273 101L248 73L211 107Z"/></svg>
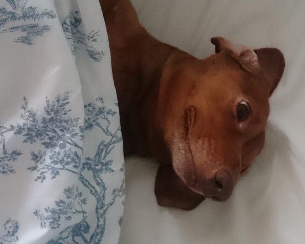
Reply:
<svg viewBox="0 0 305 244"><path fill-rule="evenodd" d="M147 133L152 130L149 120L154 119L162 69L168 57L180 51L151 36L139 23L129 1L103 2L112 67L119 71L113 76L124 151L149 155Z"/></svg>

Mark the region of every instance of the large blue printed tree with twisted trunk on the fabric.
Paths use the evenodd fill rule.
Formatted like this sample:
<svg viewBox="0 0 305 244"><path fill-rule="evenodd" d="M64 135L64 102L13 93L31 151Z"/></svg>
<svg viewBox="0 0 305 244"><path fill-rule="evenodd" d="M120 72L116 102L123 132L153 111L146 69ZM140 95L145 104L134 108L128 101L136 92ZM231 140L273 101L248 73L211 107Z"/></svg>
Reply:
<svg viewBox="0 0 305 244"><path fill-rule="evenodd" d="M71 111L67 109L69 98L69 93L66 92L58 95L54 101L46 99L44 107L46 116L42 118L38 118L38 112L28 107L28 101L24 98L22 106L24 123L11 126L10 129L14 129L15 134L23 135L24 143L39 141L43 145L45 150L31 153L34 165L28 168L38 174L36 181L43 183L48 177L53 180L59 176L61 171L66 171L77 175L81 184L95 197L97 225L89 239L83 235L88 231L79 233L81 235L77 236L81 236L85 243L100 243L105 231L106 212L117 197L124 195L123 181L119 188L112 191L110 201L106 202L108 189L103 181L104 174L114 172L111 168L113 161L109 159L109 155L115 145L121 142L120 128L117 128L114 133L111 132L111 118L116 115L116 112L106 108L102 98L98 98L96 103L85 105L85 125L79 125L79 118L68 116ZM83 147L78 143L84 140L85 130L91 131L94 128L98 128L104 133L104 140L97 146L93 157L86 157L82 160ZM84 176L84 172L86 172L85 175L88 173L92 175L95 184ZM47 224L52 229L59 228L63 218L69 221L73 215L82 215L83 220L78 223L79 225L86 223L84 206L87 200L82 198L82 192L77 186L72 186L65 189L64 194L67 200L56 201L55 208L47 207L44 212L40 210L34 212L40 220L42 228L45 228ZM64 230L64 233L65 238L71 235L74 242L73 229L75 228L70 226ZM59 236L58 239L60 238L62 237Z"/></svg>

